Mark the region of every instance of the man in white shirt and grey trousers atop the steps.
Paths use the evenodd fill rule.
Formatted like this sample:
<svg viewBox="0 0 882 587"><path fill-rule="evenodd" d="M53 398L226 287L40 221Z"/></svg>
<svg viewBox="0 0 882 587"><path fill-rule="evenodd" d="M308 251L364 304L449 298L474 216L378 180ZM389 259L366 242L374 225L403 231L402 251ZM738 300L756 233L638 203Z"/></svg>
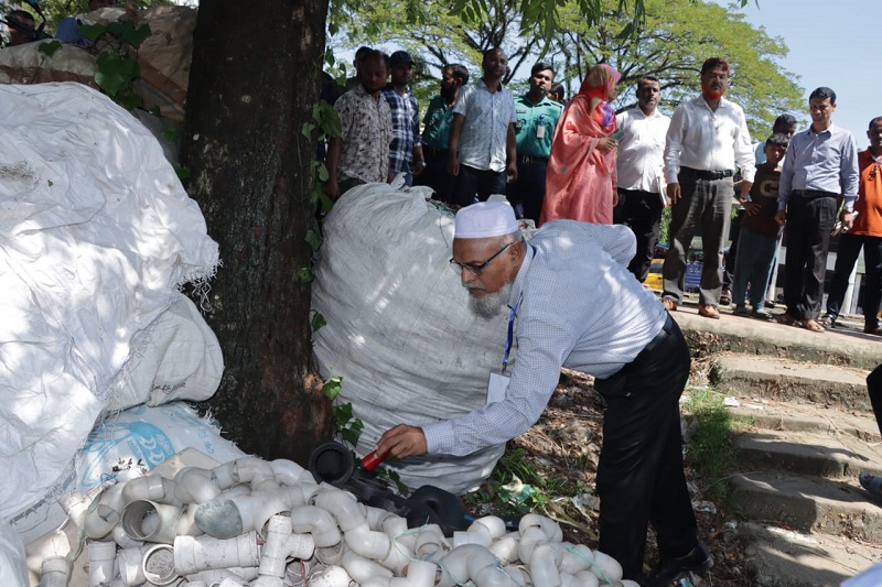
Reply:
<svg viewBox="0 0 882 587"><path fill-rule="evenodd" d="M729 62L706 59L701 96L677 107L665 144L665 178L671 208L670 249L662 270L662 301L668 311L682 300L686 256L696 229L704 251L698 313L720 317L723 246L729 233L732 196L750 192L756 171L744 111L723 98L729 87ZM742 180L733 182L738 163Z"/></svg>

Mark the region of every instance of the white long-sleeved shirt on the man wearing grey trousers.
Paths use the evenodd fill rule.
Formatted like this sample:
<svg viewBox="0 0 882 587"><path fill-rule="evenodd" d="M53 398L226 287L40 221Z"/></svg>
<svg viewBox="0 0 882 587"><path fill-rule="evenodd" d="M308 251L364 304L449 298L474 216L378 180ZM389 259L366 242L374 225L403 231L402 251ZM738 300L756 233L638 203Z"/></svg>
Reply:
<svg viewBox="0 0 882 587"><path fill-rule="evenodd" d="M734 171L753 182L756 163L744 110L725 98L713 111L703 96L677 107L665 143L665 178L679 183L680 166L700 171Z"/></svg>

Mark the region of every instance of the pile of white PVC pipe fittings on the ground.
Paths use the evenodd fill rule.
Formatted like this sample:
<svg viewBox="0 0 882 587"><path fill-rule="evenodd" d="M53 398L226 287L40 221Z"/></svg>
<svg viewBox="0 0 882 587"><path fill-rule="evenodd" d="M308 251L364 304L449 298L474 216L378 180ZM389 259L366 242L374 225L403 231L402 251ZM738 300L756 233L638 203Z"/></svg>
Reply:
<svg viewBox="0 0 882 587"><path fill-rule="evenodd" d="M90 587L637 586L612 557L562 542L548 518L527 514L517 532L481 518L449 539L290 460L153 474L63 506L88 548ZM41 587L66 586L71 565L43 559Z"/></svg>

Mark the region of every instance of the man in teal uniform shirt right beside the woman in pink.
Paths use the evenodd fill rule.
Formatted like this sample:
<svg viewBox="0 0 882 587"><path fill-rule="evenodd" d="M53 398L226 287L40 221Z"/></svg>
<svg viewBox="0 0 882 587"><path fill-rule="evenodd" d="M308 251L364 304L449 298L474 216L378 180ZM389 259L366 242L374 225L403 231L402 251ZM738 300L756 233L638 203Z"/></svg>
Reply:
<svg viewBox="0 0 882 587"><path fill-rule="evenodd" d="M508 200L521 216L537 224L545 199L545 174L551 154L551 139L563 107L548 97L555 83L555 67L537 62L530 70L530 89L515 100L517 182L508 185Z"/></svg>

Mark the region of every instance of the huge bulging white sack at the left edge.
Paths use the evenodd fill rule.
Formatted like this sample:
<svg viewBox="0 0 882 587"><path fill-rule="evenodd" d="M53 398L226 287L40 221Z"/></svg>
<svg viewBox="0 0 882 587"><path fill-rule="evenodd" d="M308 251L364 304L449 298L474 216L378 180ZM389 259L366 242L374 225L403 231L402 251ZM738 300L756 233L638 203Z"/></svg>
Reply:
<svg viewBox="0 0 882 587"><path fill-rule="evenodd" d="M132 340L218 253L157 140L97 91L0 86L0 137L4 519L56 482L106 406L123 406Z"/></svg>

